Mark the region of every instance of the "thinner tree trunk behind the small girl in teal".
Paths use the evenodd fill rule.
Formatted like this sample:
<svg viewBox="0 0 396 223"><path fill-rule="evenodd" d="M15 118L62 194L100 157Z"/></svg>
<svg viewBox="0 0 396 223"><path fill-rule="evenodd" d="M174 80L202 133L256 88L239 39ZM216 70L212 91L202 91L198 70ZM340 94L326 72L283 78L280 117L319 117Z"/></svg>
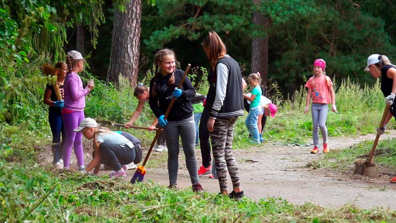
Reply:
<svg viewBox="0 0 396 223"><path fill-rule="evenodd" d="M253 12L253 23L265 32L268 28L269 18L261 12ZM253 38L251 45L251 73L260 72L261 87L264 90L263 93L265 93L268 80L268 35L265 38Z"/></svg>

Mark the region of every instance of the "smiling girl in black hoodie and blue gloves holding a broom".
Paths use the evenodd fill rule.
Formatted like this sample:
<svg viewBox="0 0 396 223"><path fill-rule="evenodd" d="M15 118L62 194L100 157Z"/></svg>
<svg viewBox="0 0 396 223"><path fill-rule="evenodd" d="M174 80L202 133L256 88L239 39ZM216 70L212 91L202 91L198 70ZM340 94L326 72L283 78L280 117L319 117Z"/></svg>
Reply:
<svg viewBox="0 0 396 223"><path fill-rule="evenodd" d="M177 185L177 171L179 169L179 136L186 156L188 173L190 173L192 190L203 190L199 183L197 160L195 156L195 122L192 114L190 99L195 96L195 89L190 79L185 78L181 89L178 89L184 72L176 69L176 58L173 50L158 50L155 55L157 72L150 81L149 104L158 118L158 123L164 127L164 134L168 144L168 173L169 188ZM164 119L166 110L173 97L175 102Z"/></svg>

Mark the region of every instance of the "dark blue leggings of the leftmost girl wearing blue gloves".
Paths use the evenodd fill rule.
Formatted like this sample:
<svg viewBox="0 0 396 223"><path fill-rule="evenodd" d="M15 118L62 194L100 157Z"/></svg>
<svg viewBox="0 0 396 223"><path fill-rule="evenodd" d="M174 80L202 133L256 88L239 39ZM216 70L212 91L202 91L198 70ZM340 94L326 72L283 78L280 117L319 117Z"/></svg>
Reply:
<svg viewBox="0 0 396 223"><path fill-rule="evenodd" d="M63 144L65 142L65 128L63 127L62 116L60 112L48 112L49 127L52 132L52 153L53 163L62 159ZM62 143L61 143L62 135Z"/></svg>

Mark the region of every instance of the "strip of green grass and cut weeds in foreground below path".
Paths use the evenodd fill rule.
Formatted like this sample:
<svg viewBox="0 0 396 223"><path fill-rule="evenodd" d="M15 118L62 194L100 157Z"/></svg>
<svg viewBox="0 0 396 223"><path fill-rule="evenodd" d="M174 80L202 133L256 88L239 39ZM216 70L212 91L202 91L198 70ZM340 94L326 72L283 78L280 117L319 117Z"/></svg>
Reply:
<svg viewBox="0 0 396 223"><path fill-rule="evenodd" d="M46 173L30 162L0 161L1 222L392 222L395 211L354 206L255 202L149 181L131 185L107 177Z"/></svg>

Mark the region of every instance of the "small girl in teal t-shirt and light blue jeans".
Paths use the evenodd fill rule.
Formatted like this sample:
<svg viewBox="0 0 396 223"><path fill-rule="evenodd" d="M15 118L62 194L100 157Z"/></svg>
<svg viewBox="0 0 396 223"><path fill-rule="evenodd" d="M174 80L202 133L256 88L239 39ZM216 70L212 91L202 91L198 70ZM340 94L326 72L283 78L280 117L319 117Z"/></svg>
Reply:
<svg viewBox="0 0 396 223"><path fill-rule="evenodd" d="M249 113L246 117L246 127L249 130L249 133L252 135L251 143L260 144L260 135L259 135L259 127L257 125L257 121L259 119L260 114L260 99L263 91L260 88L260 73L252 73L249 75L249 83L253 86L253 90L251 91L251 96L247 96L244 94L244 98L250 101L250 109Z"/></svg>

